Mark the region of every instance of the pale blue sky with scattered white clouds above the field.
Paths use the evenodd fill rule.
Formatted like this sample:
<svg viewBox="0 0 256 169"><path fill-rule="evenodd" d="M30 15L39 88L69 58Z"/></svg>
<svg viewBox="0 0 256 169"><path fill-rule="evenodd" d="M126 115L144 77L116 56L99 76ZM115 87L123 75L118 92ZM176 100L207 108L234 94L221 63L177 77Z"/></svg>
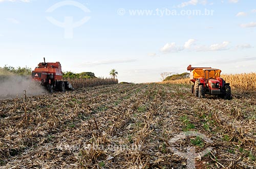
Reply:
<svg viewBox="0 0 256 169"><path fill-rule="evenodd" d="M0 0L0 67L62 71L119 82L158 82L187 66L256 71L256 1Z"/></svg>

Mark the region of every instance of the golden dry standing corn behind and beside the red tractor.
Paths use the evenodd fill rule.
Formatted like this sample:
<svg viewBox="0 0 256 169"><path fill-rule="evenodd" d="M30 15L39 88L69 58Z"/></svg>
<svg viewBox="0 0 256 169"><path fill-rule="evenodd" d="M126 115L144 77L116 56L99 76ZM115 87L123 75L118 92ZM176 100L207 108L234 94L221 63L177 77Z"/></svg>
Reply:
<svg viewBox="0 0 256 169"><path fill-rule="evenodd" d="M230 86L233 89L241 89L241 90L256 90L256 73L250 74L224 74L221 77L226 81L226 83L230 83ZM180 80L170 80L160 82L161 84L192 84L192 82L187 79Z"/></svg>

